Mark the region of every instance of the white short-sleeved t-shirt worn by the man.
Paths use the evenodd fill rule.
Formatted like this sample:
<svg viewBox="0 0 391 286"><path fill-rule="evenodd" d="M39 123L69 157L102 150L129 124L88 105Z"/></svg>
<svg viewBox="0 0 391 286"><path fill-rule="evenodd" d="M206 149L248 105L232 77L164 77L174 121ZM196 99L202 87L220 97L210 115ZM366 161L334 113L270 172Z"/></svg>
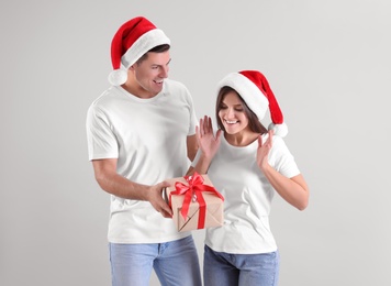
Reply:
<svg viewBox="0 0 391 286"><path fill-rule="evenodd" d="M118 158L118 173L138 184L180 177L189 167L187 136L196 124L190 92L178 81L166 79L150 99L111 87L88 110L89 160ZM189 234L179 233L148 201L111 196L110 242L159 243Z"/></svg>

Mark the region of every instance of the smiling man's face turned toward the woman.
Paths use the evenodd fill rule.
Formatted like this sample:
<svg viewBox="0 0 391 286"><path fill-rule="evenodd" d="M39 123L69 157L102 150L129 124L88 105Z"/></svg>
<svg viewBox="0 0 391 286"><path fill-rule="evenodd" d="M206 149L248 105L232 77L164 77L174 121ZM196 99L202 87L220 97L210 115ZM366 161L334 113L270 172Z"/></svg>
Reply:
<svg viewBox="0 0 391 286"><path fill-rule="evenodd" d="M163 81L168 77L169 51L164 53L148 53L146 59L132 66L135 80L138 84L137 96L142 98L154 97L163 89Z"/></svg>

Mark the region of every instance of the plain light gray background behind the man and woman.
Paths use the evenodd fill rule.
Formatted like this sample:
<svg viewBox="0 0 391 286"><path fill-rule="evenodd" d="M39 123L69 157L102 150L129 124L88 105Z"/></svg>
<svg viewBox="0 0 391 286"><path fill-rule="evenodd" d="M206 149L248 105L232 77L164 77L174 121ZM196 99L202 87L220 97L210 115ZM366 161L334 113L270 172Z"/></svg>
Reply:
<svg viewBox="0 0 391 286"><path fill-rule="evenodd" d="M24 0L0 11L0 285L110 284L109 195L85 120L109 86L111 38L136 15L171 38L170 77L199 117L214 116L227 73L268 77L311 187L304 212L273 202L280 285L391 285L389 0Z"/></svg>

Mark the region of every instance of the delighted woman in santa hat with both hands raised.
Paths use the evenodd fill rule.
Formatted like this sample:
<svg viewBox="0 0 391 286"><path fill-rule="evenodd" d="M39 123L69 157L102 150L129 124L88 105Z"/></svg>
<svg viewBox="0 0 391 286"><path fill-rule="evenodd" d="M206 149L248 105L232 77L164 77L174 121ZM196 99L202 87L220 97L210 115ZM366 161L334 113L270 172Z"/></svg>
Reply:
<svg viewBox="0 0 391 286"><path fill-rule="evenodd" d="M206 230L204 285L277 285L279 253L270 232L275 191L299 210L309 188L282 140L288 133L265 76L232 73L219 84L214 134L204 117L197 128L199 153L189 170L206 174L225 197L224 226ZM260 123L266 111L269 131Z"/></svg>

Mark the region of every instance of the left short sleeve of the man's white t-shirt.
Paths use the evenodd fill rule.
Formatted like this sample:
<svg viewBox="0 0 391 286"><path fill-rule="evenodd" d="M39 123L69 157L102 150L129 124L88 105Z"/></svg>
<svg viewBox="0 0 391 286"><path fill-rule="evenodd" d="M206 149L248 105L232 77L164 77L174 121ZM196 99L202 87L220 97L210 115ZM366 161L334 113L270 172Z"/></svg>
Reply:
<svg viewBox="0 0 391 286"><path fill-rule="evenodd" d="M86 129L90 161L119 157L119 146L110 122L104 112L94 105L88 109Z"/></svg>

